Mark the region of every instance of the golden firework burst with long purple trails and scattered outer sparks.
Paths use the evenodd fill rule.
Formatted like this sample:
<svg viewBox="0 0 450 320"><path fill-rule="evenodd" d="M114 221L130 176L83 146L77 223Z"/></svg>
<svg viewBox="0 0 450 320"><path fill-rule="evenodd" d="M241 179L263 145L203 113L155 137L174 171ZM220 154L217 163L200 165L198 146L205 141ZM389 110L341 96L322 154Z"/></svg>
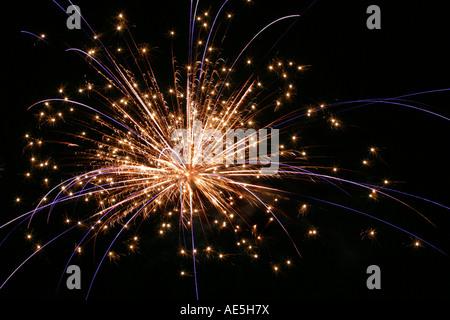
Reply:
<svg viewBox="0 0 450 320"><path fill-rule="evenodd" d="M183 240L179 244L179 255L192 258L198 298L196 256L226 260L228 255L219 244L211 243L209 231L218 235L220 230L230 231L234 234L236 248L250 259L260 260L264 230L275 224L301 256L277 213L280 197L287 199L294 193L274 186L271 184L274 180L295 179L297 183L305 184L321 182L344 193L347 193L344 185L356 186L367 192L371 199L383 197L397 201L427 219L395 195L415 196L392 189L387 178L382 178L380 185L373 185L340 177L346 169L335 164L314 164L304 138L292 134L290 127L320 114L319 118L325 119L332 130L338 130L345 124L333 114L333 110L349 105L362 107L391 103L426 113L431 111L415 106L406 100L407 96L402 96L296 107L293 111L286 108L281 117L262 123L267 113L284 110L285 106L295 103L295 76L307 70L308 66L294 60L273 59L264 68L253 68L257 62L246 56L246 50L273 24L290 25L299 15L280 17L263 26L249 38L237 57L226 59L222 56L222 36L233 18L231 13L224 11L226 3L224 1L214 15L209 11L200 13L198 2L192 3L187 62L180 63L173 56L174 81L168 86L160 83L158 69L150 62L152 48L136 42L124 13L116 17L114 32L122 39L122 45L116 47L106 45L108 42L103 42L106 35L95 32L84 21L89 35L87 46L83 49L70 47L65 51L80 55L100 77L95 81L85 81L78 87L71 83L57 88L55 98L39 101L30 107L42 132L25 135L31 170L24 175L27 179L39 177L48 191L32 211L0 228L12 223L16 223L16 227L20 224L30 226L34 216L42 213L46 213L48 219L55 219L53 212L64 203L84 202L88 210L84 210L84 215L78 212L77 217L64 217L62 221L66 229L46 242L36 242L34 252L11 272L1 287L36 253L72 230L82 228L83 236L75 245L67 265L75 255L82 255L91 241L113 234L108 237L108 245L101 254L87 290L88 297L104 260L108 258L115 262L120 259L122 254L114 247L126 238L124 231L136 228L137 221L158 217L160 224L156 234L145 236L164 237L166 233L180 233ZM168 35L171 42L176 41L176 36L181 36L176 30L169 30ZM49 43L51 38L50 33L34 36L41 40L45 37L45 43ZM448 120L442 115L434 115ZM252 128L279 128L282 133L282 141L276 151L280 160L275 175L265 174L263 168L267 163L250 153L251 144L257 143L256 135L249 135L246 143L226 143L230 129ZM186 136L174 138L174 132L181 130L186 130ZM214 130L214 135L208 134L211 130ZM268 134L264 139L270 142L273 137ZM187 142L183 157L177 150L181 140ZM299 140L302 140L301 144ZM221 145L222 152L205 161L204 155L217 145ZM55 152L48 154L49 148L54 148L58 155ZM367 158L360 160L362 167L371 165L372 159L379 156L379 148L368 146L367 153ZM226 163L225 155L231 155L235 161ZM239 161L242 156L245 159ZM50 175L50 172L54 174ZM63 180L57 178L68 172L72 175ZM409 234L414 238L415 247L429 245L441 251L417 235L375 215L313 196L302 195L302 199L299 214L306 215L314 202L340 207ZM420 199L448 209L431 200ZM19 196L15 200L23 202ZM255 218L253 212L249 212L249 206L253 212L260 212L263 218ZM374 240L376 234L376 229L370 228L361 233L361 238ZM320 228L311 228L304 236L311 240L318 238ZM29 230L26 238L34 241ZM138 236L124 241L129 252L138 250ZM294 265L292 258L271 261L269 265L279 273L283 268ZM183 268L179 275L184 277L190 272Z"/></svg>

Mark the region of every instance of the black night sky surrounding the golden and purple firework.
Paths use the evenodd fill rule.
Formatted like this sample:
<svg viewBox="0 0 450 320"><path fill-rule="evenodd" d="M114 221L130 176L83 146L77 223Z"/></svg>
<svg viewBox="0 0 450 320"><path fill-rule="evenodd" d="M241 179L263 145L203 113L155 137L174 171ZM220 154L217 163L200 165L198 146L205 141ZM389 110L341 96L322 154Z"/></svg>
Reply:
<svg viewBox="0 0 450 320"><path fill-rule="evenodd" d="M11 15L14 20L8 20L2 29L6 58L3 58L2 66L3 114L0 120L0 224L33 208L48 190L38 181L24 179L29 167L24 135L39 129L34 112L27 111L28 106L57 96L61 86L68 90L72 86L74 90L85 79L96 78L95 71L82 58L64 52L65 44L88 47L83 31L68 30L67 16L52 1L39 2L11 5L3 11L4 16ZM215 13L219 2L201 1L200 12ZM263 33L246 52L246 57L255 61L263 59L261 68L272 58L293 59L309 66L294 80L298 93L289 110L297 105L388 98L449 88L450 27L446 23L444 6L416 5L403 0L395 1L395 5L391 2L319 0L286 33L290 22L280 23ZM123 12L132 26L135 40L157 48L152 62L160 84L163 87L172 84L167 32L176 31L174 50L178 59L186 59L189 1L163 1L156 6L149 6L150 1L74 3L80 6L96 30L111 30L114 17ZM230 1L225 12L232 12L234 17L223 55L235 57L263 26L280 16L301 13L309 3L311 1L256 0L249 5L245 1ZM381 30L366 27L366 8L371 4L381 8ZM65 2L61 5L68 6ZM55 47L20 33L22 30L45 33L46 40L55 43ZM104 41L114 45L119 39L105 36ZM448 92L412 99L427 104L429 110L449 116ZM301 143L322 146L318 152L325 160L319 159L319 162L358 170L363 173L354 176L358 181L377 184L388 177L395 181L390 186L394 189L449 205L450 136L446 120L389 104L374 104L336 114L345 124L343 130L330 131L327 124L318 121L299 121ZM263 120L271 117L271 114L262 115ZM368 155L372 145L381 150L382 160L370 168L363 168L361 160ZM61 171L62 176L70 176L70 172ZM448 210L441 207L402 197L430 218L436 224L433 227L414 211L393 201L368 201L367 192L357 188L346 189L353 196L350 198L320 184L277 181L275 185L367 210L419 235L444 252L450 252L450 216ZM20 203L16 203L17 197L21 198ZM293 197L298 200L298 196ZM284 200L280 207L285 213L281 220L298 246L301 258L285 233L272 226L267 230L269 240L261 252L262 257L256 262L239 255L224 261L199 259L200 299L450 297L448 256L427 245L414 248L414 239L408 234L324 203L316 204L305 216L298 215L298 203ZM89 210L89 206L80 210ZM46 238L45 232L63 230L61 217L72 211L70 205L63 205L53 213L49 224L45 218L36 219L32 224L34 234ZM248 211L251 215L258 214L258 210L251 207ZM90 299L195 299L193 277L179 275L180 268L192 270L192 260L178 254L178 232L164 238L154 236L152 223L156 221L149 219L140 224L137 232L139 249L134 254L124 254L117 263L102 266ZM306 236L311 227L319 230L318 237ZM361 232L368 228L377 230L373 241L361 239ZM1 239L11 229L0 230ZM19 228L0 247L1 282L32 252L24 238L25 232L24 228ZM80 235L80 232L74 232L64 236L33 257L0 290L0 299L84 299L101 251L94 254L93 250L86 249L85 254L75 257L72 262L83 270L83 290L67 290L63 282L55 296L67 258ZM221 241L228 240L232 242L232 236L224 234ZM198 241L201 242L201 235ZM292 265L273 272L272 261L282 262L287 258L292 260ZM366 287L366 268L372 264L381 268L381 290Z"/></svg>

